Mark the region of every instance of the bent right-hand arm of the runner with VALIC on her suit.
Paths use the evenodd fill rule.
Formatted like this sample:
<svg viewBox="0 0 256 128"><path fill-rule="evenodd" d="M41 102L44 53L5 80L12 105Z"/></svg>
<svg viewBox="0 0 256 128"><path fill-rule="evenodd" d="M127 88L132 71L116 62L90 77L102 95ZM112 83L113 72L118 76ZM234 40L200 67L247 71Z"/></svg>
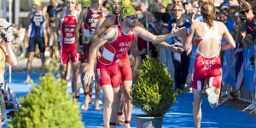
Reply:
<svg viewBox="0 0 256 128"><path fill-rule="evenodd" d="M234 38L232 37L232 35L230 34L229 30L227 29L227 27L224 25L223 22L220 23L220 28L224 28L224 38L228 41L229 44L225 44L223 46L221 46L221 50L225 50L225 49L235 49L236 48L236 43Z"/></svg>

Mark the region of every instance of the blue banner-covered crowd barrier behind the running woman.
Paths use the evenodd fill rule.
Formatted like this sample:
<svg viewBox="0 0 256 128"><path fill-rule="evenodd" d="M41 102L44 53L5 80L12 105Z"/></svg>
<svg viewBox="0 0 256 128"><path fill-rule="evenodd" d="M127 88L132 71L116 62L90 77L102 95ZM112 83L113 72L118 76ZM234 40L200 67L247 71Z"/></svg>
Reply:
<svg viewBox="0 0 256 128"><path fill-rule="evenodd" d="M171 42L170 40L167 41ZM241 44L236 44L236 49L224 51L222 91L226 92L223 102L230 99L230 92L236 92L237 99L251 104L245 108L251 109L250 113L256 111L256 83L255 66L250 58L254 55L254 46L245 49ZM160 61L167 67L167 71L174 76L172 63L172 52L166 48L160 48ZM192 55L189 61L189 74L191 75L195 62L195 46L193 45ZM188 83L190 84L190 83Z"/></svg>

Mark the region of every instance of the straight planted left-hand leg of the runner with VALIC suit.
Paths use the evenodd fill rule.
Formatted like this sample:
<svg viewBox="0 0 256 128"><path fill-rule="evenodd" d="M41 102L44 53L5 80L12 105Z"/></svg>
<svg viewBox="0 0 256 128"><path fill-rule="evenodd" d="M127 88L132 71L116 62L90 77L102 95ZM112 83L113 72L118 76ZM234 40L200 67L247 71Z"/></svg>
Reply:
<svg viewBox="0 0 256 128"><path fill-rule="evenodd" d="M193 104L193 118L195 123L195 128L201 127L201 96L202 90L195 90L192 88L194 95L194 104Z"/></svg>

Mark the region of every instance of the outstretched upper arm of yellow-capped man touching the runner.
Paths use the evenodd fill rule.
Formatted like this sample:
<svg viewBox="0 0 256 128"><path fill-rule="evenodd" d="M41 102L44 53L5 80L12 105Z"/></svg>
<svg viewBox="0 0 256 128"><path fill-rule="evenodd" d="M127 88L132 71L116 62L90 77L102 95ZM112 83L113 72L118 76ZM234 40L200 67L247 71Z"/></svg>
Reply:
<svg viewBox="0 0 256 128"><path fill-rule="evenodd" d="M135 26L134 29L137 36L143 38L144 40L153 42L155 44L160 44L161 42L164 42L167 39L172 37L178 37L180 34L183 34L183 32L186 31L185 27L183 27L183 28L172 29L172 32L166 35L155 36L154 34L148 32L147 30L143 29L140 26Z"/></svg>

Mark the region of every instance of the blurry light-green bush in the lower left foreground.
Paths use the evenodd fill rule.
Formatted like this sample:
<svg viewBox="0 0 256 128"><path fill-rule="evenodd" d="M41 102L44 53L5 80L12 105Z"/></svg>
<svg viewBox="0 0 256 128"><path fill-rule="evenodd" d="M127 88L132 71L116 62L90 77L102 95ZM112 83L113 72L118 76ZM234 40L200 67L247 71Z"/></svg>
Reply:
<svg viewBox="0 0 256 128"><path fill-rule="evenodd" d="M24 98L20 98L22 109L15 114L10 128L82 128L79 109L67 93L66 81L56 82L49 72L40 78L41 84L33 85Z"/></svg>

